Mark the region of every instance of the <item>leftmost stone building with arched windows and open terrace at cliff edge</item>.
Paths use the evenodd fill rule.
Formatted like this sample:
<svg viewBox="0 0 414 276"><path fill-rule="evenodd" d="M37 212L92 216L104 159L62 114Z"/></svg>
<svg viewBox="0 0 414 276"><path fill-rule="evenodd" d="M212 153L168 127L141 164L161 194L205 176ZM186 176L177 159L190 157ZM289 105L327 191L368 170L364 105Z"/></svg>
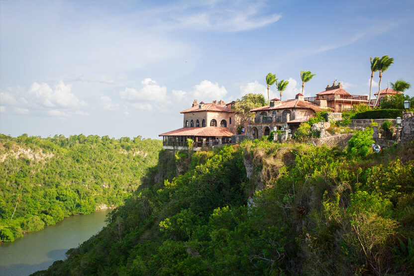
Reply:
<svg viewBox="0 0 414 276"><path fill-rule="evenodd" d="M162 133L164 149L182 149L187 147L187 140L195 142L195 150L203 146L227 143L236 134L238 116L231 110L234 102L213 100L211 103L197 102L181 111L184 114L183 127Z"/></svg>

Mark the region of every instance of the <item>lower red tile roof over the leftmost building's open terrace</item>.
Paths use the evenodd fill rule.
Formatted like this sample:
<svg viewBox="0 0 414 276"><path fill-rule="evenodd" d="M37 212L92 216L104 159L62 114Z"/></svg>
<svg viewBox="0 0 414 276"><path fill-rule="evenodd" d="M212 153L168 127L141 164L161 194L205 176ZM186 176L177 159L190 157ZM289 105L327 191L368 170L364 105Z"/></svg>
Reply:
<svg viewBox="0 0 414 276"><path fill-rule="evenodd" d="M233 133L226 127L183 127L162 133L158 136L208 136L208 137L230 137Z"/></svg>

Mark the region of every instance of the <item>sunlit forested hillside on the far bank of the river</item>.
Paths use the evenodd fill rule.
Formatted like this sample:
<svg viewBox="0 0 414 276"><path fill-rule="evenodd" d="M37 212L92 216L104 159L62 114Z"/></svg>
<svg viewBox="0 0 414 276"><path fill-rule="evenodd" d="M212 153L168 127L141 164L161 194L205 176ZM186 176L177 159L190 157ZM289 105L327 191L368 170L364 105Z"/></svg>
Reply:
<svg viewBox="0 0 414 276"><path fill-rule="evenodd" d="M0 135L0 241L115 207L157 163L159 140Z"/></svg>

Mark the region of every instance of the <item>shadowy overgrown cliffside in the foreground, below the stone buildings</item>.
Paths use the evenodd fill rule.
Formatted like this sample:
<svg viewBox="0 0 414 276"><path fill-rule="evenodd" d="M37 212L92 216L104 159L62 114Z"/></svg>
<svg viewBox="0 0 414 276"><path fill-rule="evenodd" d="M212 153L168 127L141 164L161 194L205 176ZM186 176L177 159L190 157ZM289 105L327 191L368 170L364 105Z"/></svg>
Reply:
<svg viewBox="0 0 414 276"><path fill-rule="evenodd" d="M371 130L372 131L372 130ZM410 275L414 144L162 150L103 230L35 275Z"/></svg>

